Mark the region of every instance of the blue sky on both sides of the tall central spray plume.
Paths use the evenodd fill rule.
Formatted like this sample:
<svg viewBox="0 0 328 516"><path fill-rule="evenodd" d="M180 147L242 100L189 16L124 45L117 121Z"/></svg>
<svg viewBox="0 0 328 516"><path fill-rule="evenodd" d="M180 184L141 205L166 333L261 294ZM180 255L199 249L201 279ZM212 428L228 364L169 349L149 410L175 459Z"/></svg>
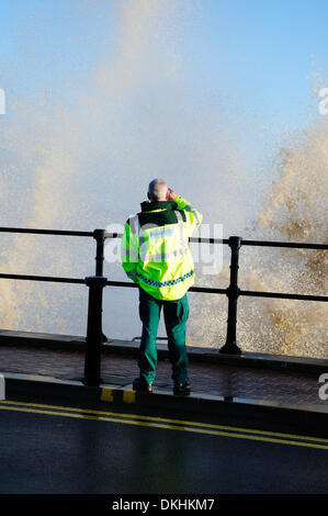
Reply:
<svg viewBox="0 0 328 516"><path fill-rule="evenodd" d="M8 93L8 112L11 99L20 94L37 98L46 90L59 103L73 99L66 86L87 83L103 52L108 59L115 57L117 5L124 3L2 0L0 88ZM285 128L302 128L318 119L312 74L319 72L323 80L328 76L326 0L171 3L190 11L186 22L180 25L178 18L173 23L174 48L186 82L193 94L199 91L197 98L206 90L226 100L235 127L248 133L246 146L247 137L261 138L263 128L279 138ZM265 142L258 141L260 154L261 145Z"/></svg>

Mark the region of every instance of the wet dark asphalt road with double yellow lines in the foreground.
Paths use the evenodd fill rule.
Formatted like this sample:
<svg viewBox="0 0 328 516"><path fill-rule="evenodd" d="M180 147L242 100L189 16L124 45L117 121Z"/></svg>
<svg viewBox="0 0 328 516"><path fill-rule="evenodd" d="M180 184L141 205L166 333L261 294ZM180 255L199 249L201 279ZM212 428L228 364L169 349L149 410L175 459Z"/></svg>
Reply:
<svg viewBox="0 0 328 516"><path fill-rule="evenodd" d="M0 402L0 493L327 493L328 439Z"/></svg>

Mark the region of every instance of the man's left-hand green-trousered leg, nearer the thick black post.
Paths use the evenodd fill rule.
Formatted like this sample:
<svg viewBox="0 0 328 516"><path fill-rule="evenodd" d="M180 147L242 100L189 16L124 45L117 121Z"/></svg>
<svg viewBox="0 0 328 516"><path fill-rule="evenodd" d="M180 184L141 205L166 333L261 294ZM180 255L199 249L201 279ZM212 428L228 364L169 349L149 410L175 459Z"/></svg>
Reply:
<svg viewBox="0 0 328 516"><path fill-rule="evenodd" d="M139 316L143 323L138 366L140 379L151 384L156 375L156 337L160 317L161 302L139 289Z"/></svg>

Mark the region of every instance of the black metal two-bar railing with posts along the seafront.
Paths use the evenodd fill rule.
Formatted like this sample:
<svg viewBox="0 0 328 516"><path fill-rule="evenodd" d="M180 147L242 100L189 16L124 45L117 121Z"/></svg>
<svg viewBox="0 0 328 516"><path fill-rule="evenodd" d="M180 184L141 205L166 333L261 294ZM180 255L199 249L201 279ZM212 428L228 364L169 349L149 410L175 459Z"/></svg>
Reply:
<svg viewBox="0 0 328 516"><path fill-rule="evenodd" d="M104 261L104 243L106 238L120 238L122 234L106 233L105 229L94 229L93 232L70 232L57 229L32 229L32 228L16 228L16 227L0 227L0 233L24 233L24 234L38 234L38 235L61 235L61 236L79 236L91 237L95 239L95 274L80 278L61 278L50 276L32 276L32 274L11 274L0 273L0 279L14 279L14 280L32 280L32 281L49 281L60 283L77 283L86 284L89 288L88 299L88 321L87 321L87 336L86 336L86 357L84 357L84 378L86 384L99 384L101 382L101 344L106 341L108 338L102 332L102 296L105 287L123 287L123 288L138 288L134 282L127 281L110 281L103 276L103 261ZM191 237L190 243L199 244L223 244L228 245L230 248L230 279L229 285L226 289L216 289L207 287L191 287L191 292L203 292L211 294L225 294L228 298L228 318L225 345L219 349L220 354L240 355L242 351L237 345L237 303L239 295L257 296L257 298L275 298L289 300L304 300L304 301L318 301L327 302L328 296L325 295L309 295L309 294L291 294L280 292L262 292L241 290L238 287L238 269L239 269L239 250L241 246L263 246L263 247L284 247L296 249L319 249L328 250L327 244L298 244L285 242L264 242L264 240L247 240L240 236L230 236L228 239L218 238L201 238Z"/></svg>

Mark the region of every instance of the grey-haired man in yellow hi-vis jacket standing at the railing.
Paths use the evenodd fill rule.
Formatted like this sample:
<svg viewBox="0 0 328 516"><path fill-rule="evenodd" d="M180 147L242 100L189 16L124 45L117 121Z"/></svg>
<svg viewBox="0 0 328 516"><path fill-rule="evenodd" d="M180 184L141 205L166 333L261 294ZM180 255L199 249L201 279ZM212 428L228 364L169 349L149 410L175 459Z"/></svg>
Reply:
<svg viewBox="0 0 328 516"><path fill-rule="evenodd" d="M189 237L202 215L161 179L148 187L142 212L125 223L121 242L122 266L139 285L139 316L143 323L139 347L139 378L136 391L151 392L156 375L156 337L163 309L176 395L190 394L185 323L186 291L194 283L194 265Z"/></svg>

